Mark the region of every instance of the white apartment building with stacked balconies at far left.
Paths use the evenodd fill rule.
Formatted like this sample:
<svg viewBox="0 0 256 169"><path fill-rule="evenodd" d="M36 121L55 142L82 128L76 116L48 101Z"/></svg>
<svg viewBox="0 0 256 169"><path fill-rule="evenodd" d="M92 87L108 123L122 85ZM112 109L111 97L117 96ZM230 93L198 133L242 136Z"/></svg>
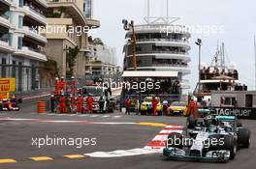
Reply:
<svg viewBox="0 0 256 169"><path fill-rule="evenodd" d="M0 77L15 77L16 91L41 88L47 8L45 0L0 0Z"/></svg>

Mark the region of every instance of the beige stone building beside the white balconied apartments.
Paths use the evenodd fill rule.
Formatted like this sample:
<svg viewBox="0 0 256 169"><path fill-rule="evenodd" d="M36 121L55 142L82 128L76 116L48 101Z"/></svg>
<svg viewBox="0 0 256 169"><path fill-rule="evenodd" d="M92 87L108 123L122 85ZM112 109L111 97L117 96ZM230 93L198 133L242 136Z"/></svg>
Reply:
<svg viewBox="0 0 256 169"><path fill-rule="evenodd" d="M48 39L46 53L48 59L57 61L61 76L69 71L67 52L76 46L79 53L74 75L85 76L85 63L91 51L87 33L100 26L98 20L92 19L92 7L92 0L48 0L48 25L44 30Z"/></svg>

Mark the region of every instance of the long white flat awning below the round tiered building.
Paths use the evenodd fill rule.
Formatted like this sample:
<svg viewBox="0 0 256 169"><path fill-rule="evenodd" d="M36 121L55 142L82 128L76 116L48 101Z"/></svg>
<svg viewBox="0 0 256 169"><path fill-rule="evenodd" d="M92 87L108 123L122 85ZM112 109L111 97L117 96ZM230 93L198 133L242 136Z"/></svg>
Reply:
<svg viewBox="0 0 256 169"><path fill-rule="evenodd" d="M123 71L122 77L177 77L177 71Z"/></svg>

